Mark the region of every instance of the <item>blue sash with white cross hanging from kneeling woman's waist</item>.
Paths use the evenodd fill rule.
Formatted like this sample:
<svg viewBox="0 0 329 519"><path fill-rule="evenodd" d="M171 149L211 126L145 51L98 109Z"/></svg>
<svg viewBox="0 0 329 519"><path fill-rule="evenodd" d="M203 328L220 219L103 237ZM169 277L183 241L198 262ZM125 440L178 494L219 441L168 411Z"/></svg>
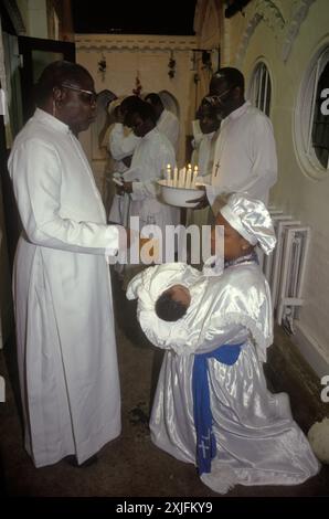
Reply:
<svg viewBox="0 0 329 519"><path fill-rule="evenodd" d="M241 345L223 345L209 353L194 356L192 374L193 416L197 432L197 466L199 475L211 472L211 460L216 455L216 442L212 432L212 414L208 384L208 359L216 359L233 366L238 359Z"/></svg>

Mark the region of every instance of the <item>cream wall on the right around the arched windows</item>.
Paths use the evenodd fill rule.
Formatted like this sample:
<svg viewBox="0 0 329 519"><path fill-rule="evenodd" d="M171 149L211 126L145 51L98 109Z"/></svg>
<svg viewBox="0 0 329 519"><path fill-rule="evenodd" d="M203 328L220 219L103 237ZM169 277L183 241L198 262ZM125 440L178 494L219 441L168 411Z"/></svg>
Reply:
<svg viewBox="0 0 329 519"><path fill-rule="evenodd" d="M205 3L210 1L213 0ZM269 68L270 118L279 163L272 200L311 226L305 305L296 324L296 341L319 374L329 373L329 177L318 181L304 174L293 137L294 113L305 71L319 45L329 43L329 4L328 0L254 0L244 12L245 17L237 13L221 19L222 66L240 67L247 81L258 57L263 56ZM257 14L262 19L255 23ZM289 35L290 53L284 61Z"/></svg>

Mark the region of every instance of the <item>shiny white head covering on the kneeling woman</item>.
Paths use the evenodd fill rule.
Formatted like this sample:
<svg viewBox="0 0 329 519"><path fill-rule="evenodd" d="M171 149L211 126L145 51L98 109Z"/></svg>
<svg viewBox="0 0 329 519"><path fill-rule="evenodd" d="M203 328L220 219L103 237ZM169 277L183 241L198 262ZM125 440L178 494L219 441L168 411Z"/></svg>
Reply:
<svg viewBox="0 0 329 519"><path fill-rule="evenodd" d="M246 193L233 193L220 210L224 219L252 245L257 243L269 254L276 237L269 212L261 200Z"/></svg>

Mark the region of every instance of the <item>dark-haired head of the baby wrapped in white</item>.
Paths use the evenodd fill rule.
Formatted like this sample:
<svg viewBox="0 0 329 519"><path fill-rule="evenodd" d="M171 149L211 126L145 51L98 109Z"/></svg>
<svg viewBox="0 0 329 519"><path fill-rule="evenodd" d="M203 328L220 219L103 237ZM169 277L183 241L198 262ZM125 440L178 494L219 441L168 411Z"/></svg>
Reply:
<svg viewBox="0 0 329 519"><path fill-rule="evenodd" d="M190 303L189 288L183 285L172 285L157 299L156 314L160 319L173 322L185 315Z"/></svg>

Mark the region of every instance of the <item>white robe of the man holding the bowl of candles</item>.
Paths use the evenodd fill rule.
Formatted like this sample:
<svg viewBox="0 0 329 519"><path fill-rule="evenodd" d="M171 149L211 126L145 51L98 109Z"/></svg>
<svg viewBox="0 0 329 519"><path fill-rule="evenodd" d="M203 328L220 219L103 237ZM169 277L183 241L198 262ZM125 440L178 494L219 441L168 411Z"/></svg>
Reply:
<svg viewBox="0 0 329 519"><path fill-rule="evenodd" d="M276 180L272 123L246 102L222 120L208 199L212 205L222 192L244 191L267 204L269 189Z"/></svg>

